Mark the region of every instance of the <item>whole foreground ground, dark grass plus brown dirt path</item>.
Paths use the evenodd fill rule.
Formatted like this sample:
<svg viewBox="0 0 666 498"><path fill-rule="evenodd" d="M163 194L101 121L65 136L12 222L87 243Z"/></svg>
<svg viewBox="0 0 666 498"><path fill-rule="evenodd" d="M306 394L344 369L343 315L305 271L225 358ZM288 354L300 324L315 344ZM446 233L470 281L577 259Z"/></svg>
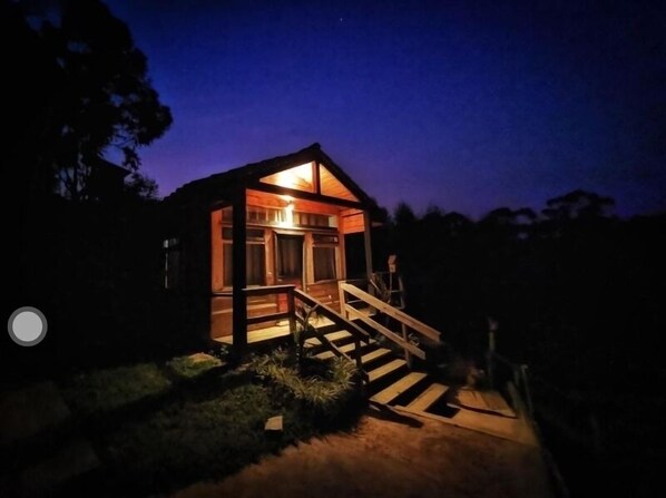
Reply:
<svg viewBox="0 0 666 498"><path fill-rule="evenodd" d="M312 438L321 431L303 412L209 360L0 392L0 496L556 496L539 445L520 432L371 404L355 429ZM265 432L275 416L284 433Z"/></svg>

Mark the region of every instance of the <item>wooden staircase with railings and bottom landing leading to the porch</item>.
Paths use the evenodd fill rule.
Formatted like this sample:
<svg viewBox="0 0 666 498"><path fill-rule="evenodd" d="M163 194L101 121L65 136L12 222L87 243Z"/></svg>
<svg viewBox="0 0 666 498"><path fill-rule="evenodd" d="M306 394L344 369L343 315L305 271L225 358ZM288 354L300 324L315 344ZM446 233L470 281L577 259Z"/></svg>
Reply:
<svg viewBox="0 0 666 498"><path fill-rule="evenodd" d="M288 320L288 326L283 328L286 335L298 328L305 331L308 354L324 360L345 358L355 363L371 403L518 442L538 443L531 412L525 409L518 392L511 392L511 383L507 387L513 408L497 391L449 389L438 381L440 375L419 371L414 367L425 365L421 361L442 345L440 332L400 310L402 306L371 295L362 285L339 282L340 311L294 285L243 292L248 297L286 294L287 311L248 318L247 324ZM317 328L316 322L312 323L313 312L317 321L325 319L325 324Z"/></svg>

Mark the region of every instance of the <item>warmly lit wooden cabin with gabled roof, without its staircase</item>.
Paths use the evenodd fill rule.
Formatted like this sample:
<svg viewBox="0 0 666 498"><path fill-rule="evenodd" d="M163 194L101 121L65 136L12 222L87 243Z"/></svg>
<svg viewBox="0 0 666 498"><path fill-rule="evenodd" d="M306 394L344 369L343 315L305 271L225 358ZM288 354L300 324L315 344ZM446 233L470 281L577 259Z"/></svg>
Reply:
<svg viewBox="0 0 666 498"><path fill-rule="evenodd" d="M286 310L284 293L241 290L294 284L340 310L337 282L372 273L376 205L319 144L190 182L165 206L168 307L200 339L242 346L271 325L253 318Z"/></svg>

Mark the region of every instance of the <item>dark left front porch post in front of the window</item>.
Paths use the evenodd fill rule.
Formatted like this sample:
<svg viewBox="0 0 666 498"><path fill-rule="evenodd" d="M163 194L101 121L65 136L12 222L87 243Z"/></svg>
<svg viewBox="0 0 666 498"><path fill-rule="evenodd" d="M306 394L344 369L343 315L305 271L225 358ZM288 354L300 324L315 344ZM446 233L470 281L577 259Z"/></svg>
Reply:
<svg viewBox="0 0 666 498"><path fill-rule="evenodd" d="M245 187L241 188L234 198L233 215L233 334L236 354L247 349L247 296L243 290L247 286L245 246L247 238Z"/></svg>

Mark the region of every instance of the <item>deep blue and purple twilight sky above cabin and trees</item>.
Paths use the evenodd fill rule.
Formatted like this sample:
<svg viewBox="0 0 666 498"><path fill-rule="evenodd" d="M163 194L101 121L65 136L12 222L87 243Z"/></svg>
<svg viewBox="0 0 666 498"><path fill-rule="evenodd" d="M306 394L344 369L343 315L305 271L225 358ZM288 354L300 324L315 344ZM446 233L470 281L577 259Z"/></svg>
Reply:
<svg viewBox="0 0 666 498"><path fill-rule="evenodd" d="M160 194L319 141L393 211L666 209L666 2L108 0L174 126Z"/></svg>

